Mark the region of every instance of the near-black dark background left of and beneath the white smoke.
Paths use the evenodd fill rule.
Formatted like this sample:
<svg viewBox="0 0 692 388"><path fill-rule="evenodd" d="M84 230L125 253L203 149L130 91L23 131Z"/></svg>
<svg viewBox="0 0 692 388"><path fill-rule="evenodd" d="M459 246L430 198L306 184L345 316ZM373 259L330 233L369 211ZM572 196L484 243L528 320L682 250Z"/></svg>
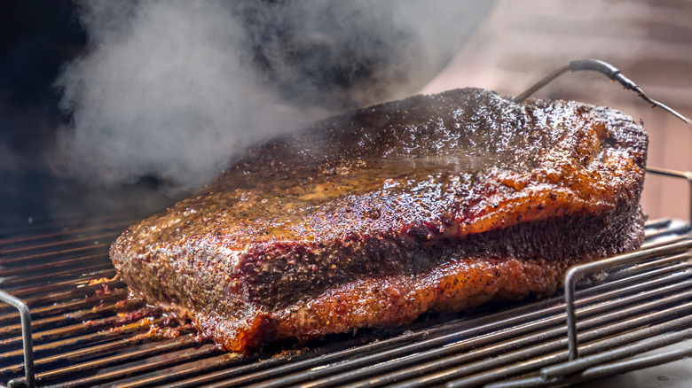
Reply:
<svg viewBox="0 0 692 388"><path fill-rule="evenodd" d="M0 2L0 231L54 219L151 213L171 198L152 176L122 187L92 187L51 165L59 111L53 81L86 50L70 0ZM104 204L107 204L106 206Z"/></svg>

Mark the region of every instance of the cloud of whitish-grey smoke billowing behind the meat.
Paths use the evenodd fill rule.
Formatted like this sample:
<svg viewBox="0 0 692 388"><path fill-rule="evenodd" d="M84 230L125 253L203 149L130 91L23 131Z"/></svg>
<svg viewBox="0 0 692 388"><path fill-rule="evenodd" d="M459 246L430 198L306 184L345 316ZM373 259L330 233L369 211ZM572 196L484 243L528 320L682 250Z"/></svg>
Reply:
<svg viewBox="0 0 692 388"><path fill-rule="evenodd" d="M479 0L330 3L80 3L89 45L55 82L71 117L57 166L95 184L200 186L264 138L412 92L488 11ZM365 81L340 83L350 63L329 78L351 56L346 76L370 71Z"/></svg>

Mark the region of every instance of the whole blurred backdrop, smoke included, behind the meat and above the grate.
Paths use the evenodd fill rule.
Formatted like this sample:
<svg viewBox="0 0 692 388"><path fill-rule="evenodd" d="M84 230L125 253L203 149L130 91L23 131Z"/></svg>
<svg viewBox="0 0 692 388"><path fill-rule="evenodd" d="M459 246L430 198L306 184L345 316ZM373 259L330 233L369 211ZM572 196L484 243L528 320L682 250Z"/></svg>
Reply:
<svg viewBox="0 0 692 388"><path fill-rule="evenodd" d="M0 221L155 210L268 136L416 92L515 96L578 58L692 116L692 2L370 3L3 2ZM614 106L650 166L692 169L692 131L602 74L535 97ZM650 176L645 210L686 218L688 191Z"/></svg>

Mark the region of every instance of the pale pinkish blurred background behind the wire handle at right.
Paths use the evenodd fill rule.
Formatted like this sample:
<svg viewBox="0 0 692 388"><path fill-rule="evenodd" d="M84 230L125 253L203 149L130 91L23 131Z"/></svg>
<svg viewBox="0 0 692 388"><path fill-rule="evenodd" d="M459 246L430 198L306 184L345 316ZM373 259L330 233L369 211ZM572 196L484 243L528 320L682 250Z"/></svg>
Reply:
<svg viewBox="0 0 692 388"><path fill-rule="evenodd" d="M599 58L654 99L692 116L692 2L685 0L496 1L476 34L423 88L477 86L515 96L559 66ZM568 73L534 97L608 105L644 121L649 166L692 170L692 130L596 73ZM687 182L648 175L643 206L651 218L688 219Z"/></svg>

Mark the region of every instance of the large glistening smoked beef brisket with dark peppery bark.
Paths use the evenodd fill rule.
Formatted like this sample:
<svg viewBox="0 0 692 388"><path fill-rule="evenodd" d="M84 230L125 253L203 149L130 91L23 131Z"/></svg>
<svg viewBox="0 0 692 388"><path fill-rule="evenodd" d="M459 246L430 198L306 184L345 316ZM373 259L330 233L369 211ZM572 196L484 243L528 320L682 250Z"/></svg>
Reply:
<svg viewBox="0 0 692 388"><path fill-rule="evenodd" d="M410 97L257 146L111 258L232 351L546 295L641 244L647 144L605 107Z"/></svg>

